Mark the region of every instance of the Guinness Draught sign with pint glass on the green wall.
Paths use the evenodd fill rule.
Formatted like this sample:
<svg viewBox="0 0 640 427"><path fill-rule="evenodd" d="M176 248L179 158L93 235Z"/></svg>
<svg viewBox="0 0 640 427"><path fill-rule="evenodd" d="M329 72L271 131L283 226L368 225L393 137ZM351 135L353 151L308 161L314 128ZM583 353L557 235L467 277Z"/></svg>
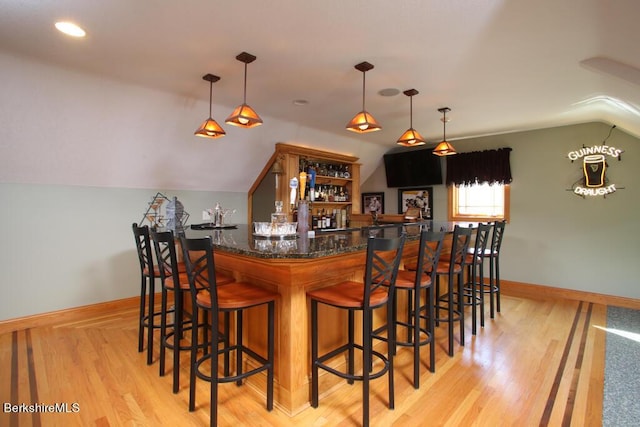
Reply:
<svg viewBox="0 0 640 427"><path fill-rule="evenodd" d="M616 191L615 184L609 184L606 176L607 156L620 159L622 150L609 145L583 147L568 154L569 159L582 159L583 177L573 185L578 196L606 196Z"/></svg>

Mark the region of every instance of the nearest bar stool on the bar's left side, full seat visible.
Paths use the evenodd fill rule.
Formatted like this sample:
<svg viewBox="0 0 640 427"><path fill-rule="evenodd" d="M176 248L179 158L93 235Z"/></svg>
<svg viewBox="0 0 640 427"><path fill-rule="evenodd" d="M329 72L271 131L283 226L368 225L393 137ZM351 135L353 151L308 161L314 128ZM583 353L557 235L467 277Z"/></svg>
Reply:
<svg viewBox="0 0 640 427"><path fill-rule="evenodd" d="M192 322L198 323L200 308L206 312L211 320L208 341L210 349L208 354L198 357L198 334L192 328L191 336L191 363L189 378L189 411L195 410L196 377L211 383L210 425L217 425L218 421L218 384L235 382L242 384L242 380L266 371L267 373L267 410L273 409L273 354L274 354L274 317L275 301L278 294L258 286L243 282L234 282L226 286L218 286L216 282L215 263L213 253L213 240L211 236L199 239L187 239L180 237L184 260L187 264L189 284L191 289L191 301L194 307ZM251 307L267 305L267 357L263 357L242 342L242 320L245 310ZM235 314L236 341L233 345L225 345L218 349L218 314ZM228 324L228 322L226 322ZM236 371L234 375L228 372L226 361L231 352L235 351ZM225 357L224 375L218 372L218 356ZM257 366L247 372L243 372L243 356L251 357ZM210 363L210 373L203 371L203 365Z"/></svg>

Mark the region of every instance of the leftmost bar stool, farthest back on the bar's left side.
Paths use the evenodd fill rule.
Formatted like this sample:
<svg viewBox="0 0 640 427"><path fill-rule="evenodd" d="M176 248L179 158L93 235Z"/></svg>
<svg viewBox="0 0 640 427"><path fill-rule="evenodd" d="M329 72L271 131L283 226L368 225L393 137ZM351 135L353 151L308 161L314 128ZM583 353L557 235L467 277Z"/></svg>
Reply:
<svg viewBox="0 0 640 427"><path fill-rule="evenodd" d="M138 314L138 352L144 349L144 332L147 331L147 365L153 363L153 331L160 328L154 324L156 316L160 316L155 311L155 280L160 277L159 270L153 262L151 249L151 239L149 238L149 227L138 226L133 223L133 236L136 242L138 261L140 262L140 311ZM149 294L147 303L147 292Z"/></svg>

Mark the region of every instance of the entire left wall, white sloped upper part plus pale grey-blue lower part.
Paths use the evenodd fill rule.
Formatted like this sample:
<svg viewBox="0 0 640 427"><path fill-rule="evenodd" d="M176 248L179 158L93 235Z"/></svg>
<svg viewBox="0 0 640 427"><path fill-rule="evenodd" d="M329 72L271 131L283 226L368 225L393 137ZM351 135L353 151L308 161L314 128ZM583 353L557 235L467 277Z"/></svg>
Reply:
<svg viewBox="0 0 640 427"><path fill-rule="evenodd" d="M384 152L269 117L207 140L193 136L206 101L3 53L0 73L0 321L137 295L131 224L157 191L177 196L191 223L216 201L246 223L247 191L276 142L367 163Z"/></svg>

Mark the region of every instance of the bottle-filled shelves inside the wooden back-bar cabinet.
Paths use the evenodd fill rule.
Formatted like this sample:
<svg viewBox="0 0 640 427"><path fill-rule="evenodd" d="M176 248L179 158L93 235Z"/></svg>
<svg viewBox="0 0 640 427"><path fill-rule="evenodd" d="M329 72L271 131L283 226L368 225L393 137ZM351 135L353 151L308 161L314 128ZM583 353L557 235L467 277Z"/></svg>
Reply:
<svg viewBox="0 0 640 427"><path fill-rule="evenodd" d="M347 228L351 215L351 165L300 157L298 170L307 173L305 198L310 202L311 229Z"/></svg>

